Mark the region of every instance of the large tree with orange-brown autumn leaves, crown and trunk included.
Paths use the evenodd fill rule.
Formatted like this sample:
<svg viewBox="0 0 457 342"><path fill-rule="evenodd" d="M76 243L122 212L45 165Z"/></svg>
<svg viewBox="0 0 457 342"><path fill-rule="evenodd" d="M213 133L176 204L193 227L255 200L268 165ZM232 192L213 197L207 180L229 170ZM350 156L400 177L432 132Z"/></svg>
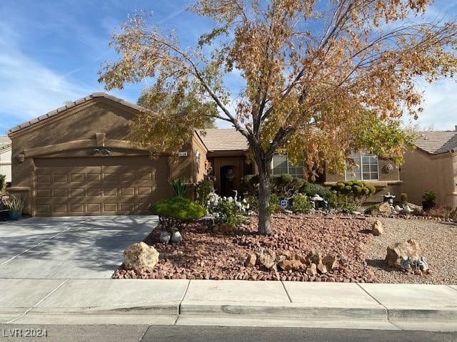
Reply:
<svg viewBox="0 0 457 342"><path fill-rule="evenodd" d="M268 175L276 152L304 160L311 177L324 166L341 170L351 148L400 154L395 123L420 112L416 81L452 77L457 67L456 24L426 22L431 2L199 0L190 10L215 28L194 48L136 14L112 36L119 60L101 68L99 81L109 90L151 78L148 91L168 94L170 103L213 103L218 111L209 114L146 108L132 141L173 152L204 127L205 115L231 123L258 166L258 232L271 234ZM244 87L232 97L224 76L233 71ZM392 125L395 141L382 134Z"/></svg>

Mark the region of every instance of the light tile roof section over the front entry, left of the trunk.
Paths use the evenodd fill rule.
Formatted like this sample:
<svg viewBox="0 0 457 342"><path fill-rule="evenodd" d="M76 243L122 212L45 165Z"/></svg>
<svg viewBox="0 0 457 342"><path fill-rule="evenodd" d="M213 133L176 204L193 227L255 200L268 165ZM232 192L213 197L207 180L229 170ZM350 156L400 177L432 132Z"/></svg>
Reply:
<svg viewBox="0 0 457 342"><path fill-rule="evenodd" d="M248 140L233 128L209 128L206 135L199 132L201 140L209 151L246 151L249 148Z"/></svg>

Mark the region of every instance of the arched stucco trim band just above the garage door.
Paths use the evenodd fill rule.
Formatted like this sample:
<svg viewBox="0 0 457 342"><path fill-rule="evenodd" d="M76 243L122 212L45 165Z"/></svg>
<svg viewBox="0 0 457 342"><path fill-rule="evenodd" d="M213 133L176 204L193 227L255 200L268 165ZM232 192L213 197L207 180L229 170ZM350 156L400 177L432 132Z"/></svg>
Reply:
<svg viewBox="0 0 457 342"><path fill-rule="evenodd" d="M62 142L61 144L56 145L46 145L42 147L30 148L28 150L24 150L25 157L38 157L40 155L49 155L52 153L57 152L64 152L68 150L78 150L81 148L91 148L91 147L99 147L97 145L96 139L86 139L86 140L74 140L69 142ZM116 148L124 148L126 150L144 150L147 151L146 148L139 148L134 147L131 143L127 140L105 140L104 147L116 147Z"/></svg>

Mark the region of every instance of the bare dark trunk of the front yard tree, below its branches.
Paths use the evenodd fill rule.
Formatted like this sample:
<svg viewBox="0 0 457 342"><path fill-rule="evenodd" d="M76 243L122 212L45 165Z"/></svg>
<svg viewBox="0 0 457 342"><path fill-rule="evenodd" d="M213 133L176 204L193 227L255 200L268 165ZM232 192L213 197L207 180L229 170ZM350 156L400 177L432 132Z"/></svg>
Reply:
<svg viewBox="0 0 457 342"><path fill-rule="evenodd" d="M263 158L262 158L263 159ZM258 166L258 234L271 235L270 168L271 160L259 160Z"/></svg>

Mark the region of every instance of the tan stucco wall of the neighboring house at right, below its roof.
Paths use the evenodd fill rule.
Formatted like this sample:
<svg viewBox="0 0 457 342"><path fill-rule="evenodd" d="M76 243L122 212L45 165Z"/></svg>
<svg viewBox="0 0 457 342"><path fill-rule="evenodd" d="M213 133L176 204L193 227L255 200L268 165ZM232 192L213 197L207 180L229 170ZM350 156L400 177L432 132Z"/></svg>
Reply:
<svg viewBox="0 0 457 342"><path fill-rule="evenodd" d="M409 202L421 204L423 192L436 192L436 204L457 207L457 153L428 155L421 150L408 150L400 172L402 192Z"/></svg>

